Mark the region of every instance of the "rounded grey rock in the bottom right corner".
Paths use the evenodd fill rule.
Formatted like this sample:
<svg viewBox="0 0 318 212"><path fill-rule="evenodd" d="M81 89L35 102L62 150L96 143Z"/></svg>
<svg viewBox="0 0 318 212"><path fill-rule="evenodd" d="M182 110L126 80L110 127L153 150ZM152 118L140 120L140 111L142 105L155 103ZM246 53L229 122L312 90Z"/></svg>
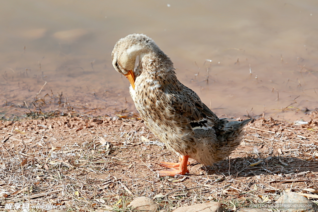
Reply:
<svg viewBox="0 0 318 212"><path fill-rule="evenodd" d="M278 206L285 205L285 207L282 207L280 209L283 209L285 211L290 211L290 212L296 212L296 211L318 212L318 206L314 202L308 200L306 197L301 196L295 192L287 192L284 195L282 195L276 201L276 205Z"/></svg>

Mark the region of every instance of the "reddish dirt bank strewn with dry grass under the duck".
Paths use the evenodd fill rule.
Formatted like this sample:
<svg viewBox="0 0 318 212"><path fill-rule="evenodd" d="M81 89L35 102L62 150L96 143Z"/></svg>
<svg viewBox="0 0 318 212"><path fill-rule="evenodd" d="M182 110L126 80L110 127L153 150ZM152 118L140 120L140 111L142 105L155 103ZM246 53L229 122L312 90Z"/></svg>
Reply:
<svg viewBox="0 0 318 212"><path fill-rule="evenodd" d="M309 124L300 126L256 120L230 158L208 167L190 160L185 177L159 177L159 161L177 161L176 156L142 121L131 114L121 118L63 116L0 123L0 207L30 202L65 205L68 211L107 206L132 211L128 203L147 196L168 212L207 201L233 211L275 202L285 191L315 195L303 189L318 189L315 112ZM311 200L317 203L317 198Z"/></svg>

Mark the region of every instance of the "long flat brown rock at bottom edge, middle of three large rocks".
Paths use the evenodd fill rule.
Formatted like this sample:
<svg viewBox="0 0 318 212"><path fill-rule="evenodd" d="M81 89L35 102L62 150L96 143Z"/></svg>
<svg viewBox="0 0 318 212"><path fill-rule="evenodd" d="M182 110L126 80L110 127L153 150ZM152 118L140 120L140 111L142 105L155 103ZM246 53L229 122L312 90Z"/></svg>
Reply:
<svg viewBox="0 0 318 212"><path fill-rule="evenodd" d="M205 202L174 209L172 212L222 212L223 207L219 202Z"/></svg>

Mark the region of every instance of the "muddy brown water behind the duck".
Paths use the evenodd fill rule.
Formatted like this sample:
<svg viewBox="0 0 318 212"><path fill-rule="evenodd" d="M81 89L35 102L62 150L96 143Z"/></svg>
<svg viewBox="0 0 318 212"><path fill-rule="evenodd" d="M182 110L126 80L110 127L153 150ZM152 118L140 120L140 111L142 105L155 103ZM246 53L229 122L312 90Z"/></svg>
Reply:
<svg viewBox="0 0 318 212"><path fill-rule="evenodd" d="M219 116L294 121L318 107L316 0L17 0L0 8L1 116L135 111L110 60L131 33L153 38Z"/></svg>

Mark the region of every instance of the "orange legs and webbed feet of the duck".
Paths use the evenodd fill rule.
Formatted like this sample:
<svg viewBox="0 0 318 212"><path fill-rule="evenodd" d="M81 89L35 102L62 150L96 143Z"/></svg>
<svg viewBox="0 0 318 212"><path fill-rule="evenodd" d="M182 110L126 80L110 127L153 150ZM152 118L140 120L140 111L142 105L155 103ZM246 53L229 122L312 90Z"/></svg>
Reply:
<svg viewBox="0 0 318 212"><path fill-rule="evenodd" d="M189 155L179 157L179 163L170 163L170 162L160 162L161 166L170 168L169 170L160 171L160 176L175 176L176 174L184 175L185 173L189 173L187 166Z"/></svg>

